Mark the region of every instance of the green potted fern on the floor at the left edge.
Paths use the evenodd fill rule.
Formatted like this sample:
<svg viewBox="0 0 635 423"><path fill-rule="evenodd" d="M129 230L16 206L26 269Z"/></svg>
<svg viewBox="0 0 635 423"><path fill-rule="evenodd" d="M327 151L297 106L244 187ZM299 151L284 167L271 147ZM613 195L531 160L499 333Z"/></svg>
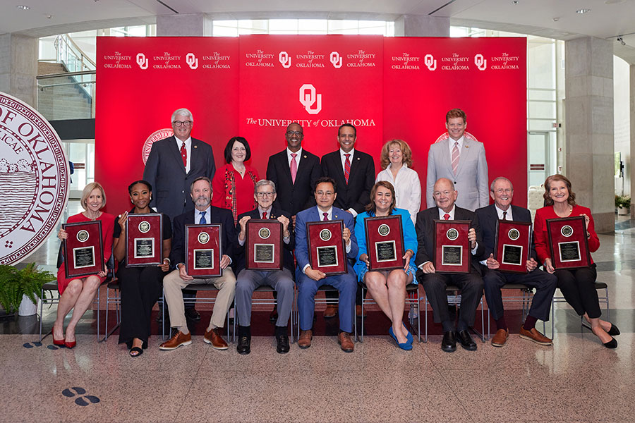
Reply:
<svg viewBox="0 0 635 423"><path fill-rule="evenodd" d="M29 263L19 270L8 264L0 264L0 305L6 314L13 314L23 300L29 300L31 309L35 307L37 310L35 305L42 293L42 286L55 279L51 272L37 269L35 263ZM35 311L30 314L35 314Z"/></svg>

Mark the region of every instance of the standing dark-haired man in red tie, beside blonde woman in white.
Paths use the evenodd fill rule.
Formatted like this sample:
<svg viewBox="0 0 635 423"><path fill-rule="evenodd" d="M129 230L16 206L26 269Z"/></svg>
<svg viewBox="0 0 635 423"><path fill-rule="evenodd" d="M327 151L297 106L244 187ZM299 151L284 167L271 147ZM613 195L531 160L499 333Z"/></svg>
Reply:
<svg viewBox="0 0 635 423"><path fill-rule="evenodd" d="M337 130L339 150L322 157L322 175L329 176L337 183L335 207L356 217L365 212L370 204L370 190L375 185L375 162L370 154L355 149L357 128L344 123ZM327 298L337 298L335 293L327 293ZM357 298L358 314L361 314L361 295ZM324 317L334 317L337 306L329 305Z"/></svg>

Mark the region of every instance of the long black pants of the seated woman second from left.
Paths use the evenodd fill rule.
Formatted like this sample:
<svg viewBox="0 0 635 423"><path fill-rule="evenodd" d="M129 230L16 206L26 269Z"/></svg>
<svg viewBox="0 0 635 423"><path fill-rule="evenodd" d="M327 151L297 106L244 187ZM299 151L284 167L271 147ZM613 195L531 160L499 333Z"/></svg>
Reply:
<svg viewBox="0 0 635 423"><path fill-rule="evenodd" d="M117 271L121 287L121 326L119 343L131 347L133 338L147 345L150 314L161 292L163 271L158 266L126 267Z"/></svg>

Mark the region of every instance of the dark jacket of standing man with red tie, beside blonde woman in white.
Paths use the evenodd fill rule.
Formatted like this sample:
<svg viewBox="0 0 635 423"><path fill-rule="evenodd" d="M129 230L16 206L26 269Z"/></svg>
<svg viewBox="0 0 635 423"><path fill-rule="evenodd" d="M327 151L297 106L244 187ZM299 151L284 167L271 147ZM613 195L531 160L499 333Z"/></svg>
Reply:
<svg viewBox="0 0 635 423"><path fill-rule="evenodd" d="M348 184L344 179L339 149L325 154L321 163L322 175L330 176L337 183L337 198L333 205L343 210L354 209L358 214L365 212L365 207L370 204L370 190L375 185L373 157L355 149Z"/></svg>

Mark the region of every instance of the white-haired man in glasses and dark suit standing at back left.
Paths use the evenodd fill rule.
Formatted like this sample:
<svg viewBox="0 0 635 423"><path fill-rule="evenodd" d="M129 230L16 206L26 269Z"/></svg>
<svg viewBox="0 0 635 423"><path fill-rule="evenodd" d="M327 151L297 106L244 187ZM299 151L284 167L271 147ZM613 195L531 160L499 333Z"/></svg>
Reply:
<svg viewBox="0 0 635 423"><path fill-rule="evenodd" d="M143 179L154 188L150 205L159 213L174 218L194 208L188 195L193 180L200 176L212 179L216 171L212 146L190 136L194 117L188 109L177 109L171 118L174 135L152 145ZM196 294L186 291L186 298ZM162 313L159 312L159 318ZM193 304L186 307L188 319L200 320Z"/></svg>

